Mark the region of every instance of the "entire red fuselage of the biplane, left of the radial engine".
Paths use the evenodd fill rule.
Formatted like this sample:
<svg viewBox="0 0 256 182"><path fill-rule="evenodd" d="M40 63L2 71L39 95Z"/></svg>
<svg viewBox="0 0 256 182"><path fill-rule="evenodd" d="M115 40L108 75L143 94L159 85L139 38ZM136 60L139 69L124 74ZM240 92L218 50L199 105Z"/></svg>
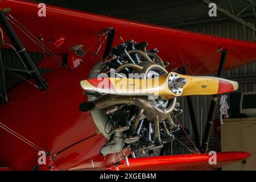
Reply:
<svg viewBox="0 0 256 182"><path fill-rule="evenodd" d="M40 91L23 82L8 93L9 103L0 105L1 122L54 156L60 169L106 167L117 163L118 155L105 159L100 148L108 141L90 113L79 110L87 101L80 81L88 78L94 61L73 70L62 68L43 75L48 89ZM11 169L32 169L38 165L38 151L5 130L0 130L0 163ZM129 153L128 153L129 154ZM123 156L121 152L120 156Z"/></svg>

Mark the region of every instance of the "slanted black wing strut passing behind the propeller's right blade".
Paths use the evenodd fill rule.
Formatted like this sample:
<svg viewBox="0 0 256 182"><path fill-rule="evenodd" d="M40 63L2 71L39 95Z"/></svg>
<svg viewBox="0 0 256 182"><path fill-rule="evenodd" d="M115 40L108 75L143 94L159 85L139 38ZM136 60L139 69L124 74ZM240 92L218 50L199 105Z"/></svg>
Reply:
<svg viewBox="0 0 256 182"><path fill-rule="evenodd" d="M218 73L217 73L217 77L219 78L222 76L222 73L223 73L227 53L228 53L228 50L226 49L223 49L221 52L220 64L218 65ZM215 114L219 95L220 94L212 95L212 100L210 101L210 109L207 117L207 125L205 126L204 138L203 138L202 148L201 148L202 153L206 153L208 150L210 131L212 130L212 124L213 124L214 114Z"/></svg>

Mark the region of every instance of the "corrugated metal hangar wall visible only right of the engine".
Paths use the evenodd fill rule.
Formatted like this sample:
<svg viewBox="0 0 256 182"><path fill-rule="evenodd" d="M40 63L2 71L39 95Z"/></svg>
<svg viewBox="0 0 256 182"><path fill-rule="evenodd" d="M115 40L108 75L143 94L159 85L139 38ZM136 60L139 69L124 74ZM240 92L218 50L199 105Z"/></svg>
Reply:
<svg viewBox="0 0 256 182"><path fill-rule="evenodd" d="M251 22L252 23L252 22ZM216 25L217 24L217 25ZM255 24L255 22L254 22ZM207 26L200 26L200 27L194 27L194 28L186 28L187 30L196 31L204 34L210 34L210 35L217 35L217 36L225 36L228 38L234 38L234 39L241 39L241 40L248 40L251 42L255 42L253 31L248 30L247 28L243 28L243 25L236 22L231 23L214 23L213 25L207 25ZM243 77L248 77L246 80L243 80ZM240 88L238 92L253 92L256 91L256 63L246 65L245 67L233 69L231 71L225 72L224 77L230 77L230 80L232 78L240 78ZM199 127L199 133L202 130L204 134L205 129L205 123L207 120L207 114L209 111L209 105L210 105L210 97L211 96L192 96L193 100L193 106L195 109L196 119L197 119L197 126ZM184 110L183 114L180 115L179 119L181 124L187 128L190 131L190 135L193 138L193 131L192 131L192 125L191 120L188 112L188 106L187 101L185 98L180 98L180 107ZM218 109L219 107L217 107ZM216 112L216 118L219 118L219 111ZM203 122L201 122L203 121ZM202 123L202 124L201 124ZM202 135L203 135L202 134ZM189 142L187 142L189 145ZM214 146L214 135L213 130L210 138L210 148L213 148ZM190 146L190 145L189 145Z"/></svg>

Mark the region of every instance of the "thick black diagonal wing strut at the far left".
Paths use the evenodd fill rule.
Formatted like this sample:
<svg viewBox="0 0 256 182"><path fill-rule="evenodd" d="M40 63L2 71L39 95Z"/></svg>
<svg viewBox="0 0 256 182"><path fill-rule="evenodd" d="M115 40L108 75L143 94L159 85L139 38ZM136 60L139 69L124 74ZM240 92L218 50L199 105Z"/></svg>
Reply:
<svg viewBox="0 0 256 182"><path fill-rule="evenodd" d="M41 77L40 73L38 72L38 69L35 67L34 63L30 59L30 56L28 56L26 49L23 47L22 43L18 39L18 36L16 36L13 28L6 19L6 16L2 10L0 11L0 23L3 29L5 30L7 36L11 40L11 43L13 44L14 48L16 49L16 53L18 53L20 58L24 61L24 64L28 69L28 73L30 73L32 78L34 78L38 88L40 90L47 89L46 81L44 81Z"/></svg>

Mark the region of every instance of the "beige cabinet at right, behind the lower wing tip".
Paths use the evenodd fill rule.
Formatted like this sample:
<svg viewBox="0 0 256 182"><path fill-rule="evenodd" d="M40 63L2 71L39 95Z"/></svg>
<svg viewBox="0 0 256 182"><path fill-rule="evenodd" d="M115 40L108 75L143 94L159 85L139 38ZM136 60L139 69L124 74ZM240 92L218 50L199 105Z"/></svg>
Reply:
<svg viewBox="0 0 256 182"><path fill-rule="evenodd" d="M245 151L251 154L243 162L230 164L222 170L256 171L256 118L223 119L221 151Z"/></svg>

